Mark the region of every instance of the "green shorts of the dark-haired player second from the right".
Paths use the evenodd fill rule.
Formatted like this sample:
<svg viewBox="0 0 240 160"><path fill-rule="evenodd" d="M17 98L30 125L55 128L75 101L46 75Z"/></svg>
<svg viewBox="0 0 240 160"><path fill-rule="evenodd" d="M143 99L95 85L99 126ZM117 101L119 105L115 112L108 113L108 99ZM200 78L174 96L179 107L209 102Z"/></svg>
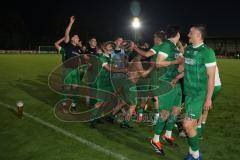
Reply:
<svg viewBox="0 0 240 160"><path fill-rule="evenodd" d="M182 102L182 89L180 84L166 94L158 96L159 109L171 111L172 107L180 107Z"/></svg>

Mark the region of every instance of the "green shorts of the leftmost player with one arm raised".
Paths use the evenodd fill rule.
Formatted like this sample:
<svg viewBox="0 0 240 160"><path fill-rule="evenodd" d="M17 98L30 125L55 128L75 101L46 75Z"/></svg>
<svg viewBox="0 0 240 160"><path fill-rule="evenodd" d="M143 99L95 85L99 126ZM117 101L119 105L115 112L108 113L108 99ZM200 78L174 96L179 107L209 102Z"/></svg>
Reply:
<svg viewBox="0 0 240 160"><path fill-rule="evenodd" d="M78 69L64 68L64 84L67 85L79 85L80 84L80 72Z"/></svg>

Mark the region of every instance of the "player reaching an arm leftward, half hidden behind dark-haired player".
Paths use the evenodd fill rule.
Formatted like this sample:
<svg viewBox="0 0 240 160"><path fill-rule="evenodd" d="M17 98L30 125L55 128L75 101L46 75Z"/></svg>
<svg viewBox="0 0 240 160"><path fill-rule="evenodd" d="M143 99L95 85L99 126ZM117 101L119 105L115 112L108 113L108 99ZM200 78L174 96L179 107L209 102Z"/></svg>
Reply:
<svg viewBox="0 0 240 160"><path fill-rule="evenodd" d="M154 61L154 62L156 62L156 59L157 59L157 51L156 50L158 50L158 47L161 45L161 43L165 40L165 37L166 37L166 35L165 35L165 32L164 31L158 31L158 32L156 32L155 34L154 34L154 39L153 39L153 41L154 41L154 46L153 46L153 48L152 49L150 49L149 51L143 51L143 50L141 50L141 49L138 49L137 47L135 48L135 51L137 52L137 53L139 53L142 57L146 57L146 58L148 58L148 57L150 57L151 58L151 61ZM154 84L156 84L157 83L157 81L158 81L158 78L159 78L159 76L158 76L158 72L157 72L157 70L154 70L152 73L150 73L151 74L151 77L154 77L153 78L153 82L152 82L152 84L154 85ZM156 77L156 78L155 78ZM154 103L154 109L155 109L155 116L154 116L154 124L156 124L156 122L157 122L157 119L158 119L158 117L159 117L159 106L158 106L158 97L157 96L155 96L155 97L153 97L152 98L152 101L153 101L153 103ZM141 107L140 107L140 109L139 109L139 116L138 116L138 122L141 122L142 121L142 119L143 119L143 113L144 113L144 108L145 108L145 104L146 103L144 103L144 101L142 100L142 103L141 103Z"/></svg>

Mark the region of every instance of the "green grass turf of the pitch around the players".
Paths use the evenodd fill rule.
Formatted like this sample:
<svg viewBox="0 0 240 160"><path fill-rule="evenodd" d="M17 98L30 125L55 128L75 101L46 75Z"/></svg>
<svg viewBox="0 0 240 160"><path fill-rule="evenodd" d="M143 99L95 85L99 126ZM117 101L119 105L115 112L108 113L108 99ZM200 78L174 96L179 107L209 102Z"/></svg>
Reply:
<svg viewBox="0 0 240 160"><path fill-rule="evenodd" d="M47 85L48 74L61 61L59 55L0 55L0 102L15 106L23 100L24 110L70 133L94 142L132 160L182 160L187 142L178 136L179 148L165 146L166 156L159 157L149 144L152 127L135 125L120 129L107 122L89 127L87 123L66 123L53 114L53 106L62 97ZM240 61L218 60L223 88L210 112L201 141L206 160L240 159ZM112 160L103 152L66 137L30 118L19 120L14 110L0 105L1 160Z"/></svg>

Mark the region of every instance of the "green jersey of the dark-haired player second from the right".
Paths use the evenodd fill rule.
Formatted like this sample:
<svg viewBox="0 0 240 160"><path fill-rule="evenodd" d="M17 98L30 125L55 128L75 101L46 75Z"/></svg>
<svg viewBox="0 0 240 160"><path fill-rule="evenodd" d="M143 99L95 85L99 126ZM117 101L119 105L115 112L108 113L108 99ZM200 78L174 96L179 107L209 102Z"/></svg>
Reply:
<svg viewBox="0 0 240 160"><path fill-rule="evenodd" d="M166 59L166 61L174 61L176 60L179 55L180 51L178 47L171 41L166 40L161 45L156 45L151 49L154 53L157 53L157 55L162 55ZM156 54L155 54L156 55ZM157 55L153 56L153 60L157 60ZM162 79L166 80L168 82L171 82L176 75L178 74L178 64L176 65L170 65L166 69L166 73L163 75Z"/></svg>

